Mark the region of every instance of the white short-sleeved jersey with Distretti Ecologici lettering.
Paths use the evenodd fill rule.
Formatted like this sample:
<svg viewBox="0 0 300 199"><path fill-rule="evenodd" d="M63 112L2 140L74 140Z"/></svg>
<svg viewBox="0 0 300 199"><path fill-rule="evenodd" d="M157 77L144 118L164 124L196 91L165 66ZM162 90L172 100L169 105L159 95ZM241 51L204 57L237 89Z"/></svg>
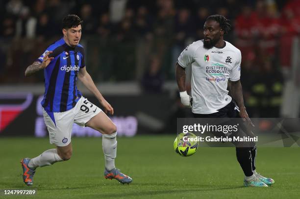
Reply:
<svg viewBox="0 0 300 199"><path fill-rule="evenodd" d="M211 114L231 102L227 83L241 76L241 51L229 42L223 48L203 47L203 40L188 45L178 57L183 68L192 67L192 112Z"/></svg>

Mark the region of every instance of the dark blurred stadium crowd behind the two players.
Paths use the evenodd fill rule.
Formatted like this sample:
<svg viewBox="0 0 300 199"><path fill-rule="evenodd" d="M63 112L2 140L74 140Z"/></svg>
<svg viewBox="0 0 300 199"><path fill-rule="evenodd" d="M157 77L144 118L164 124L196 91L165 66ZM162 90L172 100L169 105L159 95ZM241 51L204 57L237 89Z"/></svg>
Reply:
<svg viewBox="0 0 300 199"><path fill-rule="evenodd" d="M300 34L300 0L1 0L0 12L1 84L42 83L42 75L25 79L25 68L61 37L61 20L73 13L84 21L93 79L135 81L149 92L174 81L178 55L202 39L207 16L224 15L232 24L225 40L242 51L247 106L261 117L278 115Z"/></svg>

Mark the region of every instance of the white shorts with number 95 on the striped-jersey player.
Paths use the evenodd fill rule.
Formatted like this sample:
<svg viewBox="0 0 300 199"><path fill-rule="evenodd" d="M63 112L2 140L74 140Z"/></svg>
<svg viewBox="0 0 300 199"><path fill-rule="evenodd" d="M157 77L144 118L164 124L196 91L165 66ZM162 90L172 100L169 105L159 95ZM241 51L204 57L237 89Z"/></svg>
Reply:
<svg viewBox="0 0 300 199"><path fill-rule="evenodd" d="M44 112L44 121L47 126L50 138L50 144L59 147L67 146L71 143L71 134L73 123L85 127L85 124L102 110L81 97L75 107L65 112L50 112L51 116ZM54 123L54 121L55 123Z"/></svg>

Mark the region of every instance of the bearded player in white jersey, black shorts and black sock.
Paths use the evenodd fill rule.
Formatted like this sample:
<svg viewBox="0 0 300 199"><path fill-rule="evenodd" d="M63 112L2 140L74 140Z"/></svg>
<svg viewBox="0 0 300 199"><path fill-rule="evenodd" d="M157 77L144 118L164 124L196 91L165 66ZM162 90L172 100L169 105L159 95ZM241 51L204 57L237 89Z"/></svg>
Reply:
<svg viewBox="0 0 300 199"><path fill-rule="evenodd" d="M240 82L241 51L223 39L230 28L224 16L209 16L204 23L204 39L188 45L178 57L175 74L181 103L192 107L196 118L241 117L253 126L244 106ZM185 68L188 66L192 67L192 97L185 88ZM231 96L228 95L228 81ZM255 143L252 146L236 147L237 160L245 174L244 185L267 187L274 184L272 178L256 172Z"/></svg>

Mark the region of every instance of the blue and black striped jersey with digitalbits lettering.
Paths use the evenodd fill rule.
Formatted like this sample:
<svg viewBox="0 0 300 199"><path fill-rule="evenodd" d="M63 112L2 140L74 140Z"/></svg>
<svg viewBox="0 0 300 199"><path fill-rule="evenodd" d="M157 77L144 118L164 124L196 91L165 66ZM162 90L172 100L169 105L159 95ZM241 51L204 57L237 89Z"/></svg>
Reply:
<svg viewBox="0 0 300 199"><path fill-rule="evenodd" d="M36 61L42 63L48 51L52 51L49 57L54 59L44 69L45 93L41 105L45 111L68 111L81 97L76 81L79 69L85 67L84 49L80 44L71 47L62 38L51 44Z"/></svg>

